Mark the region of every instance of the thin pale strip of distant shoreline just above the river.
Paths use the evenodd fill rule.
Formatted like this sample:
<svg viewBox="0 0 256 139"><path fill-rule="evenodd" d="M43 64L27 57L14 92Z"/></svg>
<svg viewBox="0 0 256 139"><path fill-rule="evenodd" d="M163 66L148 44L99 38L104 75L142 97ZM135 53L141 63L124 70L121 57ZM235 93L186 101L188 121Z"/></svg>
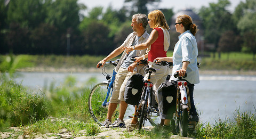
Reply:
<svg viewBox="0 0 256 139"><path fill-rule="evenodd" d="M109 69L111 72L113 69ZM71 68L54 68L54 67L34 67L34 68L23 68L17 69L20 72L101 72L101 69L97 68L81 68L81 67L71 67ZM200 75L252 75L256 76L256 71L239 71L239 70L202 70L199 69Z"/></svg>

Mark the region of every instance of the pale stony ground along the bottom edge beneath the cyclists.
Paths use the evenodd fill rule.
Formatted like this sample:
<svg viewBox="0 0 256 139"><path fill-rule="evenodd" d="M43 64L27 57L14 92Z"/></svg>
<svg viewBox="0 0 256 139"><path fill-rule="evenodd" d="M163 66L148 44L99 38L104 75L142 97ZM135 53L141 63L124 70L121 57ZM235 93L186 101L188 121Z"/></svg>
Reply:
<svg viewBox="0 0 256 139"><path fill-rule="evenodd" d="M51 122L54 122L56 120L61 120L57 118L51 117ZM67 119L63 120L62 122L66 122ZM129 123L129 121L125 121L126 123ZM127 126L127 124L126 124ZM99 128L99 127L98 127ZM130 139L135 139L135 138L184 138L184 139L189 139L193 137L181 137L179 135L171 135L169 134L168 136L161 136L161 135L153 135L153 133L150 133L151 129L153 126L147 126L143 128L142 133L139 133L138 130L134 130L133 132L127 132L126 128L103 128L100 129L100 133L94 134L94 135L89 135L87 131L87 128L84 128L82 130L79 130L77 133L74 133L72 130L68 130L67 128L61 128L58 130L57 133L32 133L28 134L26 132L26 127L10 127L8 128L5 132L0 132L0 138L5 139L5 138L36 138L36 139L41 139L41 138L49 138L49 139L57 139L57 138L76 138L76 139L85 139L85 138L130 138ZM47 129L46 129L47 130ZM149 133L147 133L149 132ZM147 133L147 134L143 134Z"/></svg>

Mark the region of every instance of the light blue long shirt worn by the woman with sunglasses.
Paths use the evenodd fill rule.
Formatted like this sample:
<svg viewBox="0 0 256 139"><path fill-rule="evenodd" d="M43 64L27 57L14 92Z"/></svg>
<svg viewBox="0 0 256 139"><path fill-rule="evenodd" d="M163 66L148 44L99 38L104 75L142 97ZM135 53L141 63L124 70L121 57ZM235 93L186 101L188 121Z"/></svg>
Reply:
<svg viewBox="0 0 256 139"><path fill-rule="evenodd" d="M179 41L175 44L173 51L172 76L170 80L178 80L173 77L173 74L182 68L183 61L188 61L188 76L184 79L189 81L190 84L198 84L200 81L197 67L197 55L198 49L196 38L191 34L190 30L187 30L179 36Z"/></svg>

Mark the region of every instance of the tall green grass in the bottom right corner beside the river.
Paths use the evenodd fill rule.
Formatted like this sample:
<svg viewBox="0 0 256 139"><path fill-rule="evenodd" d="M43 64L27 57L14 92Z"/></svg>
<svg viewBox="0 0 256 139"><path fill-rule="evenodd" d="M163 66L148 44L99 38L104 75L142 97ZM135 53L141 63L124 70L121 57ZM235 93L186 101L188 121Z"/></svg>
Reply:
<svg viewBox="0 0 256 139"><path fill-rule="evenodd" d="M256 109L255 109L256 112ZM211 126L199 125L197 127L197 138L255 138L256 115L255 112L239 112L235 113L234 120L215 120L215 124Z"/></svg>

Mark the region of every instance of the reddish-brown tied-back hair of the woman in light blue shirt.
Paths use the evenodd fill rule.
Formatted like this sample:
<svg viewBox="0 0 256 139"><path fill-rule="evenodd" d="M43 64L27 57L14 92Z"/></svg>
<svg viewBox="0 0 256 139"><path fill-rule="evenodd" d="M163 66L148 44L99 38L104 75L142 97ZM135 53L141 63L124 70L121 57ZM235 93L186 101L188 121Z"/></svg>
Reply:
<svg viewBox="0 0 256 139"><path fill-rule="evenodd" d="M177 21L179 23L182 23L186 31L190 30L191 34L193 34L194 36L196 35L196 32L198 31L197 26L195 23L193 23L193 20L189 17L189 15L179 15L177 17Z"/></svg>

